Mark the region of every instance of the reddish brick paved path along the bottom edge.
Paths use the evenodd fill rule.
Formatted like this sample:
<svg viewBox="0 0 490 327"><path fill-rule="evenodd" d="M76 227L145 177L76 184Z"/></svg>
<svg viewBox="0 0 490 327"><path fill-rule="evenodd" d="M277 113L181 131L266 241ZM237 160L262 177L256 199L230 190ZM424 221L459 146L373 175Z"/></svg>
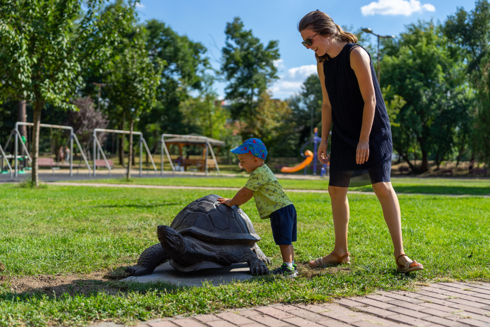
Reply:
<svg viewBox="0 0 490 327"><path fill-rule="evenodd" d="M377 292L334 302L177 316L137 327L490 327L490 283L437 283L413 293Z"/></svg>

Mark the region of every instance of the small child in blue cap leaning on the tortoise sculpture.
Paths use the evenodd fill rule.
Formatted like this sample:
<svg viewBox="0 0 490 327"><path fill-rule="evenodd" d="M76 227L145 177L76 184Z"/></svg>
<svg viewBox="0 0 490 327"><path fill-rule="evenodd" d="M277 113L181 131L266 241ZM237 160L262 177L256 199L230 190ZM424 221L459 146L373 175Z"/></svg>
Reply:
<svg viewBox="0 0 490 327"><path fill-rule="evenodd" d="M274 242L281 250L283 264L272 273L296 277L298 270L292 245L292 242L296 242L296 209L274 173L265 165L267 150L264 144L258 138L249 138L230 151L238 155L241 165L250 173L250 177L233 199L218 198L219 203L240 206L253 197L260 218L271 219Z"/></svg>

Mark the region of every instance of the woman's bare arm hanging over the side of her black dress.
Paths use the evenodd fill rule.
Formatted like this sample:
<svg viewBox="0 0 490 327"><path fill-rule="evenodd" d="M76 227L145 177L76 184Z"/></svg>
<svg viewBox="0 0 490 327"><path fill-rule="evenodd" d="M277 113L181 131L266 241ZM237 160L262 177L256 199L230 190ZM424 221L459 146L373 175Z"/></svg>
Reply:
<svg viewBox="0 0 490 327"><path fill-rule="evenodd" d="M356 153L357 164L364 164L369 158L369 134L373 127L376 96L374 93L373 77L371 75L371 62L367 52L358 46L352 49L350 59L351 68L356 74L362 99L364 100L361 134Z"/></svg>

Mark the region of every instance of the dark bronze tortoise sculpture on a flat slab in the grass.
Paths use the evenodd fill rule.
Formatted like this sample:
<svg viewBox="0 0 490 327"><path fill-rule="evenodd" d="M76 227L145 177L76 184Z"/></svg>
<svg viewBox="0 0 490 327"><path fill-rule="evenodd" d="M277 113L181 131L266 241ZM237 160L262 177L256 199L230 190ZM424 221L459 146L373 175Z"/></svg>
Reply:
<svg viewBox="0 0 490 327"><path fill-rule="evenodd" d="M126 272L133 276L149 275L166 261L177 270L188 272L226 267L247 262L253 275L268 274L270 260L260 250L250 218L234 205L217 202L208 195L188 204L170 227L157 227L160 243L150 246Z"/></svg>

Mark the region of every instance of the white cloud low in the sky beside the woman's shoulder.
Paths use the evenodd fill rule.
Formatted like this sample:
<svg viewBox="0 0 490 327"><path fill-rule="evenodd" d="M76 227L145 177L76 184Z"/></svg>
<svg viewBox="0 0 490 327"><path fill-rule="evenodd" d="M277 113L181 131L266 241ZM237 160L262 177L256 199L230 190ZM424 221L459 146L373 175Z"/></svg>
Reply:
<svg viewBox="0 0 490 327"><path fill-rule="evenodd" d="M274 98L286 99L299 92L301 85L311 74L316 74L316 65L289 68L271 87L270 90L273 92Z"/></svg>

